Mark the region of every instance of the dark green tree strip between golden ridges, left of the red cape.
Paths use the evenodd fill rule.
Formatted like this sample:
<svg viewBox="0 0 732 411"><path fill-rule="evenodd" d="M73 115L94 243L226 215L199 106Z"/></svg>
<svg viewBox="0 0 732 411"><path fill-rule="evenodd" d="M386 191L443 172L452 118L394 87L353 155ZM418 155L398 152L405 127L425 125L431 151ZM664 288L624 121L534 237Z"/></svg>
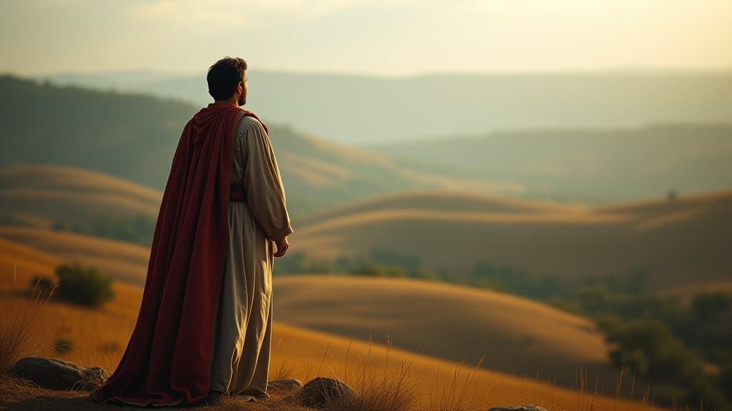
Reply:
<svg viewBox="0 0 732 411"><path fill-rule="evenodd" d="M151 246L156 222L155 217L144 214L130 217L98 215L85 223L56 222L51 228L56 231L69 231L141 246Z"/></svg>

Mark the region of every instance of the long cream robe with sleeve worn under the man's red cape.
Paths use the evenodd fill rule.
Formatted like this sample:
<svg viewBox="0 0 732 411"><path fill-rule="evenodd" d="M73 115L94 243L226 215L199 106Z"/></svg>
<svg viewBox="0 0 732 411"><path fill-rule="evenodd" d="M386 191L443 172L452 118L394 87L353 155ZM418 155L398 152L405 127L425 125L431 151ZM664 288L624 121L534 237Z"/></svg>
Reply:
<svg viewBox="0 0 732 411"><path fill-rule="evenodd" d="M247 203L229 202L228 207L228 252L214 334L211 390L268 396L273 241L293 230L275 152L259 121L242 118L234 150L231 183L244 184Z"/></svg>

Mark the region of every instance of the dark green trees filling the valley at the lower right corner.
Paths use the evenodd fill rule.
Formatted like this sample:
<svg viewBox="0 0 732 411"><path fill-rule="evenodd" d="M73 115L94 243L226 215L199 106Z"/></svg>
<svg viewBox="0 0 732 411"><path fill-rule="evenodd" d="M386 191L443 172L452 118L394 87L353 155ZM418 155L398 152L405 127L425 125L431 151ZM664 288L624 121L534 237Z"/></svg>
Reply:
<svg viewBox="0 0 732 411"><path fill-rule="evenodd" d="M588 279L569 306L594 319L605 333L610 361L647 377L656 398L671 404L732 407L732 297L695 295L685 303L654 293L635 271L601 282Z"/></svg>

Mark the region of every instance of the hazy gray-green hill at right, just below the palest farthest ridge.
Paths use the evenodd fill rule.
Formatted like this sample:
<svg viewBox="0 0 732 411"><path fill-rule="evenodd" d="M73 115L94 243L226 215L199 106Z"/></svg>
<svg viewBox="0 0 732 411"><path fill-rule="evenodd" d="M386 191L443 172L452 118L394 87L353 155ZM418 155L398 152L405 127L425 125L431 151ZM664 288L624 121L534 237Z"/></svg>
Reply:
<svg viewBox="0 0 732 411"><path fill-rule="evenodd" d="M732 189L732 124L450 136L370 148L395 161L452 165L455 178L512 181L532 199L617 203Z"/></svg>

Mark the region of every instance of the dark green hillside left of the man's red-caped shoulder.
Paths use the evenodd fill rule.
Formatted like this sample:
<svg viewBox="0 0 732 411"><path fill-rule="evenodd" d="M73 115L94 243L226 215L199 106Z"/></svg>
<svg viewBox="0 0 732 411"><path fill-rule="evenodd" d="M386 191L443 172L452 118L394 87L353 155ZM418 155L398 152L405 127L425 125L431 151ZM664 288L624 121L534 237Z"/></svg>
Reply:
<svg viewBox="0 0 732 411"><path fill-rule="evenodd" d="M0 76L0 167L71 165L161 189L190 104Z"/></svg>

